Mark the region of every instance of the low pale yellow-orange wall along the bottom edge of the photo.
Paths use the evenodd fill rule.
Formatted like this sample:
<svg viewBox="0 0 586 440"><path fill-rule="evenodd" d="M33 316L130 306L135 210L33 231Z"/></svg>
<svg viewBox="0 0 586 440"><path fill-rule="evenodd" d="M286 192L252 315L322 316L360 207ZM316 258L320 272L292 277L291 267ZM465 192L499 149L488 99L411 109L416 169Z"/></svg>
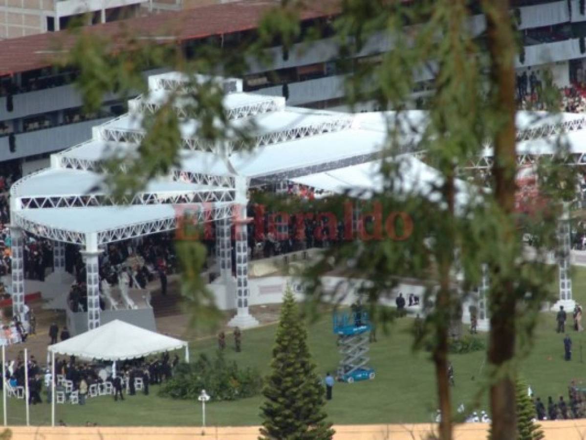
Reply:
<svg viewBox="0 0 586 440"><path fill-rule="evenodd" d="M586 438L586 419L543 422L546 440L583 440ZM205 435L197 427L129 428L129 427L11 427L15 440L257 440L256 427L211 427ZM420 440L433 432L434 425L357 425L335 427L335 440ZM456 428L456 440L484 440L488 425L464 424Z"/></svg>

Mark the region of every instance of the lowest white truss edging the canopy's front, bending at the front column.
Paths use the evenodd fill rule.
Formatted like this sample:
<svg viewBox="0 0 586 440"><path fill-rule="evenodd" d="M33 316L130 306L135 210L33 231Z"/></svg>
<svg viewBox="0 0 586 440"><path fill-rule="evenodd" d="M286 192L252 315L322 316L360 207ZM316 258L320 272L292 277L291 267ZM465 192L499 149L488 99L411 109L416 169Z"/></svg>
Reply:
<svg viewBox="0 0 586 440"><path fill-rule="evenodd" d="M231 203L212 205L210 209L199 209L199 206L197 205L195 207L193 205L186 205L183 207L185 207L185 212L189 214L189 220L193 221L194 224L228 219L233 216L234 212L234 204ZM181 209L182 206L178 206L179 212ZM63 241L65 243L79 245L86 244L87 237L85 233L37 223L35 221L26 219L26 217L22 215L22 211L13 212L12 219L15 223L15 226L21 227L23 230L35 234L38 237ZM181 219L181 216L173 215L157 220L127 224L122 227L97 231L98 245L113 243L114 241L127 240L128 238L147 236L159 232L173 231L177 228L178 221L181 221Z"/></svg>

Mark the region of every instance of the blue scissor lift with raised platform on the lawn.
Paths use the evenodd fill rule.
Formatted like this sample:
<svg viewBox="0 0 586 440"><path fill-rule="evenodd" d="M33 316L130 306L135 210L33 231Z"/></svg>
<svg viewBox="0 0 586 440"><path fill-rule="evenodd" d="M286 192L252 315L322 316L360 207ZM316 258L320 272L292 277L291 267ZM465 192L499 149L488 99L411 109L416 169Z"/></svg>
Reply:
<svg viewBox="0 0 586 440"><path fill-rule="evenodd" d="M333 332L338 335L339 352L342 355L336 378L353 383L374 379L374 369L367 367L370 360L370 325L366 312L338 312L333 315Z"/></svg>

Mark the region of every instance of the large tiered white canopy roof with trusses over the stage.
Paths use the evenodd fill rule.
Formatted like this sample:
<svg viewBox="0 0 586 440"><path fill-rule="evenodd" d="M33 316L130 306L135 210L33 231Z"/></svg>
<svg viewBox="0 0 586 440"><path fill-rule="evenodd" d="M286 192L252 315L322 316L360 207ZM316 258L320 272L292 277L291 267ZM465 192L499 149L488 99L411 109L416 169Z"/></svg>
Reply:
<svg viewBox="0 0 586 440"><path fill-rule="evenodd" d="M86 247L90 243L96 250L110 241L172 230L175 211L185 208L199 210L200 221L230 217L234 204L246 203L251 179L295 179L333 192L379 191L379 169L372 161L386 147L389 129L399 130L403 151L413 151L427 125L423 111L353 115L287 107L282 97L242 93L239 80L218 80L229 88L224 104L230 124L255 127L250 148L237 139L211 143L197 138L199 122L179 101L175 104L183 138L178 163L168 176L153 179L142 193L124 201L131 206L113 206L118 201L99 189L104 159L138 154L142 114L156 110L172 91L182 93L184 78L175 73L149 77L149 93L131 100L128 114L94 127L90 141L53 155L50 169L16 182L11 187L11 220L30 233ZM188 94L183 96L189 101ZM527 149L545 151L540 138L554 135L560 124L569 131L579 128L570 141L584 149L580 129L586 127L586 118L529 112L517 114L520 148L527 144ZM413 157L404 163L404 186L396 187L432 197L437 173Z"/></svg>

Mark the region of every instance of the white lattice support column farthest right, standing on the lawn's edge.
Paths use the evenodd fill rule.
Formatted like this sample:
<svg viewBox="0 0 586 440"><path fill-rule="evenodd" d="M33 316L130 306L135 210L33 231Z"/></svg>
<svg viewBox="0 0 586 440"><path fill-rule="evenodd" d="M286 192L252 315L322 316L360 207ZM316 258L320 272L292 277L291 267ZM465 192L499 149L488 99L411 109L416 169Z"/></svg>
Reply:
<svg viewBox="0 0 586 440"><path fill-rule="evenodd" d="M553 305L554 310L559 310L564 306L566 311L572 312L575 307L575 301L572 298L572 279L570 277L571 268L571 237L570 237L570 210L568 204L564 204L564 211L560 218L557 228L558 241L558 279L560 288L560 298Z"/></svg>

